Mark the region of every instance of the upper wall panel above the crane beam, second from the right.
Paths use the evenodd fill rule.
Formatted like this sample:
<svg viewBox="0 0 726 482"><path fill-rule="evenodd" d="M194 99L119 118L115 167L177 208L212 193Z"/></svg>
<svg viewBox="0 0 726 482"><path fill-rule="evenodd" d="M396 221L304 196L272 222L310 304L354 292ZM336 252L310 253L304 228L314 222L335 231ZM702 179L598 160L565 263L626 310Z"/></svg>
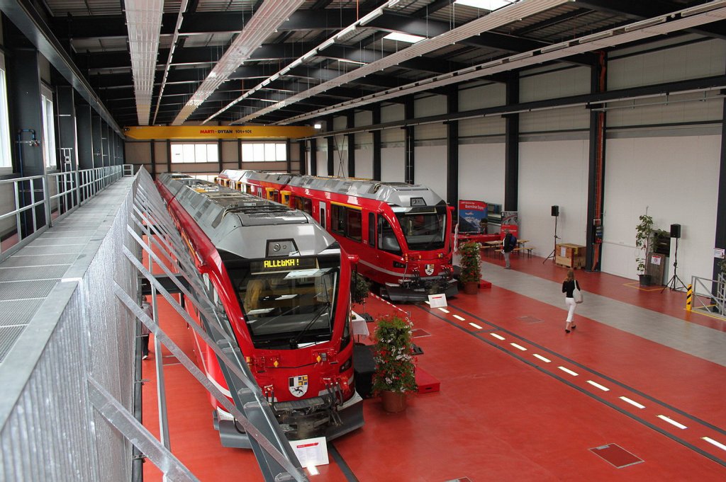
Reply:
<svg viewBox="0 0 726 482"><path fill-rule="evenodd" d="M590 69L587 67L531 75L519 81L519 100L522 102L578 94L590 94Z"/></svg>

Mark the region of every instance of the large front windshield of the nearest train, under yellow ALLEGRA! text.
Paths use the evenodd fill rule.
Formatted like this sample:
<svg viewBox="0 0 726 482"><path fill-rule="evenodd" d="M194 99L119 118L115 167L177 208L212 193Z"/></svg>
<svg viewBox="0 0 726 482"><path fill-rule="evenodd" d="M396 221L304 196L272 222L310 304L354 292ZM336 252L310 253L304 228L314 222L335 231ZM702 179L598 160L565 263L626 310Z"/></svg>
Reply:
<svg viewBox="0 0 726 482"><path fill-rule="evenodd" d="M340 256L240 260L227 267L257 348L329 341Z"/></svg>

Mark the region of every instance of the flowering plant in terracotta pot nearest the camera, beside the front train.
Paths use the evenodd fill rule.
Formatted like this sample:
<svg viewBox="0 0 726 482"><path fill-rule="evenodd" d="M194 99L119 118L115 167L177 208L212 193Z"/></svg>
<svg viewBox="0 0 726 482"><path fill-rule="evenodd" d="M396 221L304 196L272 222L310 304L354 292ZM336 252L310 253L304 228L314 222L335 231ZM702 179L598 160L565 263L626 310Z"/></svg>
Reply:
<svg viewBox="0 0 726 482"><path fill-rule="evenodd" d="M373 393L380 394L383 410L401 412L406 408L406 392L417 390L413 364L412 323L396 315L378 320L373 339Z"/></svg>

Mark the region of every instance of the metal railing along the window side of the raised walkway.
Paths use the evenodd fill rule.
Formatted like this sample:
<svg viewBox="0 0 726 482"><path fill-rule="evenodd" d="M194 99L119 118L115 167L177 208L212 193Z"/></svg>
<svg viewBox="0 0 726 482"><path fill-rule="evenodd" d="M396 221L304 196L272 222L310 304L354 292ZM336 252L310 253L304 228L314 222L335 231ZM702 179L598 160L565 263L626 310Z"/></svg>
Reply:
<svg viewBox="0 0 726 482"><path fill-rule="evenodd" d="M0 215L0 261L120 179L129 168L134 169L133 165L107 166L0 180L0 191L12 190L15 199Z"/></svg>

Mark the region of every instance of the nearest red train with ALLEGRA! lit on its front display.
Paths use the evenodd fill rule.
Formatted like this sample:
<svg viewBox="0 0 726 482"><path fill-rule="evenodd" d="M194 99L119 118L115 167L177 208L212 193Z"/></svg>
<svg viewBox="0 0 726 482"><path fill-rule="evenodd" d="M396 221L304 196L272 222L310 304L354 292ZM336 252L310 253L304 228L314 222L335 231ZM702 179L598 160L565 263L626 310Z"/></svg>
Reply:
<svg viewBox="0 0 726 482"><path fill-rule="evenodd" d="M335 439L362 426L351 259L335 239L304 212L215 183L162 174L157 185L287 437ZM199 339L197 357L229 396L219 360ZM222 444L249 447L247 434L212 402Z"/></svg>

